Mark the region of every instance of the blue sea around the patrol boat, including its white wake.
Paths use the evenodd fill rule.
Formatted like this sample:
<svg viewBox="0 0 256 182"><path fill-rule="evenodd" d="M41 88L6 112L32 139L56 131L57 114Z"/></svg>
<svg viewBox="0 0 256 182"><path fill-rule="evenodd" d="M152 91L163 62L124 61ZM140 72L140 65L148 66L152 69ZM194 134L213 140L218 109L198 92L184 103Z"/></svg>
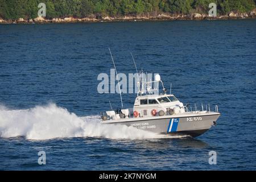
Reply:
<svg viewBox="0 0 256 182"><path fill-rule="evenodd" d="M255 30L255 19L0 24L0 169L255 170ZM119 94L97 92L109 47L118 72L135 72L133 52L181 102L217 104L217 126L158 138L99 125L109 100L120 106ZM132 107L135 94L122 96Z"/></svg>

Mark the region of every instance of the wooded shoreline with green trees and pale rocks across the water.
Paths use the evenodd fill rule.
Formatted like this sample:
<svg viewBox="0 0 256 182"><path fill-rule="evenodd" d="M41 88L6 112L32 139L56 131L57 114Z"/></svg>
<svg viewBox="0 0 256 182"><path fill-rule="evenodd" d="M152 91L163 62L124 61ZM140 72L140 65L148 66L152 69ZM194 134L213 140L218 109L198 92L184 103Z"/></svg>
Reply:
<svg viewBox="0 0 256 182"><path fill-rule="evenodd" d="M1 0L0 2L0 23L8 24L246 19L255 18L255 14L256 0L44 0L43 2Z"/></svg>

